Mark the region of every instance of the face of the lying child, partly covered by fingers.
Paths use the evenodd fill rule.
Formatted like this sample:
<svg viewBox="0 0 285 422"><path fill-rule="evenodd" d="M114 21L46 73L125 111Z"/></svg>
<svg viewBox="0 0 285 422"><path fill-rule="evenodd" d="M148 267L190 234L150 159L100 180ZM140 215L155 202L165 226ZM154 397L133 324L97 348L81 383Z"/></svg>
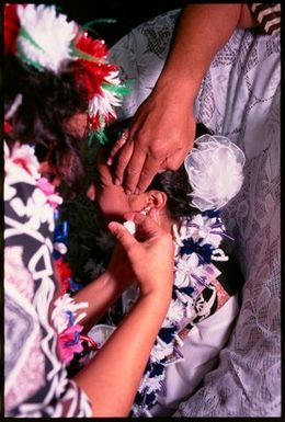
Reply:
<svg viewBox="0 0 285 422"><path fill-rule="evenodd" d="M123 223L124 214L140 212L146 206L146 194L126 195L123 186L114 184L111 168L100 153L96 169L99 182L94 186L94 199L105 223L117 220Z"/></svg>

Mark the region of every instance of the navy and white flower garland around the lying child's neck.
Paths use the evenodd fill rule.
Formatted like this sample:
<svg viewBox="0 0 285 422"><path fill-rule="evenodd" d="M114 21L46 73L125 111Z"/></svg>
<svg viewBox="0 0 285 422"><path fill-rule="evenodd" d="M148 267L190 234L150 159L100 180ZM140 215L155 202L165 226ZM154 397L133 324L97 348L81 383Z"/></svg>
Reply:
<svg viewBox="0 0 285 422"><path fill-rule="evenodd" d="M201 320L209 316L214 299L207 303L201 295L220 275L213 262L228 260L219 248L223 238L228 237L219 210L181 218L181 227L178 229L174 225L173 235L172 299L133 404L134 417L151 417L150 409L156 404L158 394L166 394L166 368L183 360L179 346L183 345L189 326L194 324L197 317Z"/></svg>

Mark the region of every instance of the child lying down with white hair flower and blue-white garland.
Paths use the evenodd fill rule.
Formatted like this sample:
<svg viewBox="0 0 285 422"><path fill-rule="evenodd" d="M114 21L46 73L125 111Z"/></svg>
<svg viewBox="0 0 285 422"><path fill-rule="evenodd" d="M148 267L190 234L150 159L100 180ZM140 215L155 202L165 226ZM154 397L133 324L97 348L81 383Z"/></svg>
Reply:
<svg viewBox="0 0 285 422"><path fill-rule="evenodd" d="M242 276L228 255L233 239L226 232L220 208L242 185L244 156L226 137L204 134L179 170L157 174L145 193L127 195L113 182L107 150L99 155L94 186L104 220L123 221L133 210L151 213L173 236L172 300L132 411L133 417L166 417L215 366L239 312ZM125 227L136 231L132 221ZM137 297L134 282L122 296L123 315ZM102 345L114 330L115 326L98 324L89 335Z"/></svg>

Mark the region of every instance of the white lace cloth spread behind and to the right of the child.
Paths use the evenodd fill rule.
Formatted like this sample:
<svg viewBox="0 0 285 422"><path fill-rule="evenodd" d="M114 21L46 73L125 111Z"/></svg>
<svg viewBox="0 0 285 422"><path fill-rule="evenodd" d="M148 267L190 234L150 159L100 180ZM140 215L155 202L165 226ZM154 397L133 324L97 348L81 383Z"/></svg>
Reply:
<svg viewBox="0 0 285 422"><path fill-rule="evenodd" d="M179 11L118 41L111 61L134 79L119 118L149 95ZM216 55L195 103L197 122L228 136L247 157L241 192L224 208L246 277L239 318L219 364L174 417L281 415L280 36L237 30Z"/></svg>

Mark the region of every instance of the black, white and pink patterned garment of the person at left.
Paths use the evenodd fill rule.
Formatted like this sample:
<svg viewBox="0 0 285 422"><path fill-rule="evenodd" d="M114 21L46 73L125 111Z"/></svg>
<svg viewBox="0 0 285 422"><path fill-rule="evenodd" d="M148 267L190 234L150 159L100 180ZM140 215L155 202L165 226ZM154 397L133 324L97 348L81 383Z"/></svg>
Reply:
<svg viewBox="0 0 285 422"><path fill-rule="evenodd" d="M5 417L89 417L88 398L68 380L50 323L57 288L52 263L54 209L19 149L11 153L5 146Z"/></svg>

